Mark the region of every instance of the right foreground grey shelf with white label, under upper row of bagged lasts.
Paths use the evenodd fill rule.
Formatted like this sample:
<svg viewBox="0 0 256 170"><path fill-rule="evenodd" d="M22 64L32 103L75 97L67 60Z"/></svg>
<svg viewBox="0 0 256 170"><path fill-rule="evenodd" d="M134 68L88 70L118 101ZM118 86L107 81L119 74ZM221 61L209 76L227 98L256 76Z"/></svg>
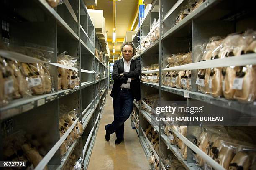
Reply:
<svg viewBox="0 0 256 170"><path fill-rule="evenodd" d="M186 98L200 100L209 104L213 104L218 107L223 107L227 109L236 110L238 112L243 112L251 116L255 116L256 102L253 103L240 103L234 100L227 100L225 98L215 98L210 94L202 94L200 92L192 92L185 89L177 89L173 87L162 86L161 90L171 92L173 94L178 94Z"/></svg>

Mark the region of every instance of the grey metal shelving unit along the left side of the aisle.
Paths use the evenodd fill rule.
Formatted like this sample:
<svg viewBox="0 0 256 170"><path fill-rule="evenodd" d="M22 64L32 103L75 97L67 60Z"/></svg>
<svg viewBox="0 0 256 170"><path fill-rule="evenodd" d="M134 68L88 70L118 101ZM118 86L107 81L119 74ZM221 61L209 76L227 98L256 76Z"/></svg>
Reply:
<svg viewBox="0 0 256 170"><path fill-rule="evenodd" d="M46 133L49 140L44 148L46 154L35 170L41 170L45 166L49 170L61 170L67 164L70 155L83 157L83 151L86 153L83 164L87 168L99 127L100 114L103 112L108 94L109 81L108 58L105 54L102 61L95 57L95 48L99 51L103 51L103 48L84 2L67 0L56 8L51 8L46 0L24 1L22 5L5 1L1 2L2 5L7 11L15 9L11 16L10 13L1 11L1 14L5 13L1 19L9 23L10 45L25 46L25 43L33 43L54 49L49 64L55 92L16 99L0 108L0 129L3 132L0 139L0 158L3 158L5 137L15 133L16 129L36 134L39 128ZM36 17L39 14L41 17ZM17 19L11 20L10 17ZM1 31L0 35L2 36ZM70 56L78 58L77 68L57 63L57 54L62 51L67 51ZM12 51L0 50L0 55L21 62L42 62ZM56 90L58 66L78 71L80 85L74 89ZM100 79L96 81L97 73L100 74ZM68 110L79 109L79 115L68 131L60 137L59 108L63 105ZM60 146L79 120L83 123L83 133L61 157ZM90 141L87 142L90 132Z"/></svg>

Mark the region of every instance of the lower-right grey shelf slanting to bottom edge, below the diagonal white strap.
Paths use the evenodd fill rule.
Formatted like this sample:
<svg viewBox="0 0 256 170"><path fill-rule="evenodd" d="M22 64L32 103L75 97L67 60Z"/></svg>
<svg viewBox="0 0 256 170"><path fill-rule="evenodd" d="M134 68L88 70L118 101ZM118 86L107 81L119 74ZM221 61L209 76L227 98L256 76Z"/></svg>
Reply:
<svg viewBox="0 0 256 170"><path fill-rule="evenodd" d="M198 167L195 163L187 163L187 160L184 160L182 155L179 155L179 147L176 145L172 145L169 142L169 138L166 136L166 134L161 134L161 139L164 141L165 145L169 148L169 150L172 151L172 153L177 157L177 160L179 160L182 165L186 168L186 170L200 170L201 168Z"/></svg>

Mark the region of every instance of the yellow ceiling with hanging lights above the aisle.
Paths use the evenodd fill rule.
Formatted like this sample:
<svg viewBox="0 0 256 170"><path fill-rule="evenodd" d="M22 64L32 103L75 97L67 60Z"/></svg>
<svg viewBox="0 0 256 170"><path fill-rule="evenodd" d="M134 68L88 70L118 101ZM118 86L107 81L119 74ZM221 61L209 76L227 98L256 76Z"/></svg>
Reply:
<svg viewBox="0 0 256 170"><path fill-rule="evenodd" d="M135 18L135 13L138 10L138 0L116 0L116 20L115 20L115 28L116 28L116 38L122 40L118 40L121 42L116 42L115 51L120 52L120 47L123 42L123 38L126 35L126 31L130 30L133 20ZM91 6L87 6L87 8L91 8ZM112 40L113 33L113 0L97 0L97 6L93 6L93 9L103 10L105 17L105 28L108 31L108 39ZM135 25L136 26L136 25ZM135 27L134 26L134 27ZM112 53L113 43L108 40L108 47L110 52ZM115 57L117 58L117 57ZM110 57L112 60L112 55Z"/></svg>

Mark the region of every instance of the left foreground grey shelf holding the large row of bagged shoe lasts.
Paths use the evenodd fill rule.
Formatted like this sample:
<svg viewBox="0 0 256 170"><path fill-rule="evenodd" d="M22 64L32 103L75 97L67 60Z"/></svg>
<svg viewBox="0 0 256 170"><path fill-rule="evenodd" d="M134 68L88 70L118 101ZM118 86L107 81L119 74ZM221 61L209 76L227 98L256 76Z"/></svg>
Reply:
<svg viewBox="0 0 256 170"><path fill-rule="evenodd" d="M79 90L80 88L77 87L76 89L61 90L50 94L42 94L39 96L32 96L30 98L13 100L7 106L0 108L0 119L3 120L14 117Z"/></svg>

